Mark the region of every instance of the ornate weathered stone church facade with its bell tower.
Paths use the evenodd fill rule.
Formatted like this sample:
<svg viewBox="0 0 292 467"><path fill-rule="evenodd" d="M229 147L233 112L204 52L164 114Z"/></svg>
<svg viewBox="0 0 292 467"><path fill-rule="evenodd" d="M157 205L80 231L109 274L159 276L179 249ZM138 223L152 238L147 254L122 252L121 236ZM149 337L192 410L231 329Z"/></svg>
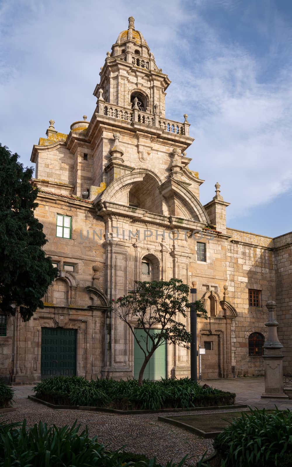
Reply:
<svg viewBox="0 0 292 467"><path fill-rule="evenodd" d="M135 280L171 277L196 287L208 311L198 320L202 378L263 374L268 300L278 304L291 373L292 233L273 239L228 228L218 183L200 203L187 115L165 116L169 85L130 17L101 67L91 120L84 115L69 134L50 120L34 145L36 217L59 276L30 321L0 316L0 374L14 383L133 377L133 337L109 305ZM160 358L160 376L190 375L186 349L165 346Z"/></svg>

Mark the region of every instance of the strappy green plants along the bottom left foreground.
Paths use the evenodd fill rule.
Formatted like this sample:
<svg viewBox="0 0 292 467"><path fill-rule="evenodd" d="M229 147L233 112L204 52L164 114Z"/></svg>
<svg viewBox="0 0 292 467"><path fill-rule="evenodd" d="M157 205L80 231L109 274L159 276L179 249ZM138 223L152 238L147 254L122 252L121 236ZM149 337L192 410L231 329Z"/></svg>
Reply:
<svg viewBox="0 0 292 467"><path fill-rule="evenodd" d="M78 434L76 422L57 428L39 422L32 428L0 422L0 467L158 467L156 460L134 453L111 452L89 438L87 426ZM166 467L181 467L172 461ZM125 464L126 463L126 464Z"/></svg>

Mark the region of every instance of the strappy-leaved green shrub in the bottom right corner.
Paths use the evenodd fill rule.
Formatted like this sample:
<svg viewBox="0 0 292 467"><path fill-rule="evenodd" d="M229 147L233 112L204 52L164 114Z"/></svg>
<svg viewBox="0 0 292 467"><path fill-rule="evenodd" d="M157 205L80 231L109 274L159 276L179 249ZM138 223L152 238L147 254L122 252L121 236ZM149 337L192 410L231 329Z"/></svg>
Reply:
<svg viewBox="0 0 292 467"><path fill-rule="evenodd" d="M214 439L224 466L291 466L292 412L277 408L272 413L250 412L242 412Z"/></svg>

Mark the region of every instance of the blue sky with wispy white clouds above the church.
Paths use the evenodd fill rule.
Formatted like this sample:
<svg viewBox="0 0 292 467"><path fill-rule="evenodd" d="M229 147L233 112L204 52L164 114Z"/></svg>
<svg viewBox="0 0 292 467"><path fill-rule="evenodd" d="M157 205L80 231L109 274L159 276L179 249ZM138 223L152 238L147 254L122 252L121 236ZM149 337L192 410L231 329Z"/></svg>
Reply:
<svg viewBox="0 0 292 467"><path fill-rule="evenodd" d="M0 1L0 142L30 165L49 120L90 118L100 66L135 17L172 83L166 116L188 114L190 168L230 202L228 226L292 231L292 4L285 0Z"/></svg>

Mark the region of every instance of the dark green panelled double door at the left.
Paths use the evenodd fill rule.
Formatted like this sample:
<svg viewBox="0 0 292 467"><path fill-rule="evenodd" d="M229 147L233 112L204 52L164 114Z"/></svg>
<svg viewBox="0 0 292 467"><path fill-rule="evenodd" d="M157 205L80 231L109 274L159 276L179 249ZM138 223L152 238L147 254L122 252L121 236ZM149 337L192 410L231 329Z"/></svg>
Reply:
<svg viewBox="0 0 292 467"><path fill-rule="evenodd" d="M76 329L42 327L42 379L76 375L76 334Z"/></svg>

